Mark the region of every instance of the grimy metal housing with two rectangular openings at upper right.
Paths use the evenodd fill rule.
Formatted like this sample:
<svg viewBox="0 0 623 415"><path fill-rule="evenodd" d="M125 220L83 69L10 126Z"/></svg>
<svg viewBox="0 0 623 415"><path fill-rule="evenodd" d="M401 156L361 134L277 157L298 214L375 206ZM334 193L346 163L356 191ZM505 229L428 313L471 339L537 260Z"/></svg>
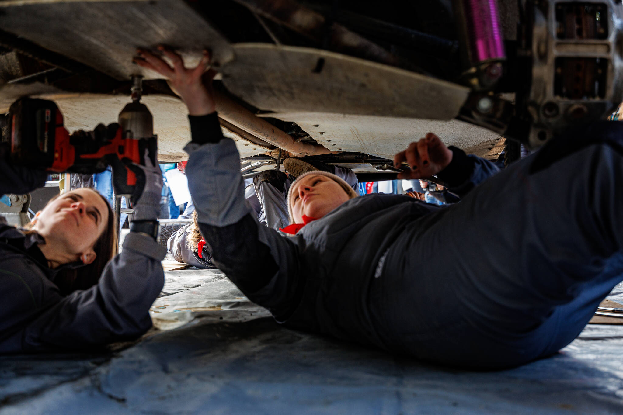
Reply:
<svg viewBox="0 0 623 415"><path fill-rule="evenodd" d="M529 0L525 6L530 90L518 95L526 144L604 118L623 100L623 11L614 0ZM530 47L530 49L528 49Z"/></svg>

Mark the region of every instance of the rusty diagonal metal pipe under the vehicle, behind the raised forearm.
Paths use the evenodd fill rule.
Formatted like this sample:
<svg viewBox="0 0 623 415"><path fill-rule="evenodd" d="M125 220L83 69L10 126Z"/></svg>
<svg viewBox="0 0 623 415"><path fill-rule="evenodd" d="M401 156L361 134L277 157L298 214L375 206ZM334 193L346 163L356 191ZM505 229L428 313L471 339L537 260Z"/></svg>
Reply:
<svg viewBox="0 0 623 415"><path fill-rule="evenodd" d="M339 151L330 151L320 144L308 144L294 141L290 135L277 127L255 116L254 113L235 102L221 91L214 91L214 101L219 117L243 129L249 134L273 144L296 157L316 156L318 154L338 154Z"/></svg>

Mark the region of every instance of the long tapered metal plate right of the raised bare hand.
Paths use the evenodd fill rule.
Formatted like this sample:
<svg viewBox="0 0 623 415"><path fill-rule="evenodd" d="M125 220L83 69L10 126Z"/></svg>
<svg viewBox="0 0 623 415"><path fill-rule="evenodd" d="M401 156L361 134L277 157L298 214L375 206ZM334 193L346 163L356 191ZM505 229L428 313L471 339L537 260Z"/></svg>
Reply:
<svg viewBox="0 0 623 415"><path fill-rule="evenodd" d="M326 50L234 44L223 83L261 110L452 119L468 88Z"/></svg>

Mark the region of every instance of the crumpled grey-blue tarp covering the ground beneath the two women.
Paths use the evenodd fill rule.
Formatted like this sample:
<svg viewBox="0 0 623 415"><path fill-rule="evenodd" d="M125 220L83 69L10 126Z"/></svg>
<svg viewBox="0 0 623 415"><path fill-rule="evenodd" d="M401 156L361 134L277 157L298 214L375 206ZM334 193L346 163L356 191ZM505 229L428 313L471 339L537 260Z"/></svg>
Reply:
<svg viewBox="0 0 623 415"><path fill-rule="evenodd" d="M473 373L280 327L216 270L169 271L163 291L152 315L169 330L131 347L0 357L0 414L623 413L623 326Z"/></svg>

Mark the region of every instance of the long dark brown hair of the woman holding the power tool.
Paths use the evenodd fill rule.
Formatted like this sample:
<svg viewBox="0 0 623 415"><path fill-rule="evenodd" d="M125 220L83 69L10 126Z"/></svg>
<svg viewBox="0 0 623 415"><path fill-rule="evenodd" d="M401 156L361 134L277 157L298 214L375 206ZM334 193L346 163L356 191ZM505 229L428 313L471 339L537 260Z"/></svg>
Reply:
<svg viewBox="0 0 623 415"><path fill-rule="evenodd" d="M93 190L93 189L89 189ZM107 198L103 197L100 192L93 190L97 193L108 208L108 222L102 235L95 241L93 251L95 251L95 260L87 265L80 266L79 268L66 268L61 269L54 279L54 284L59 287L59 291L62 295L67 296L70 292L76 290L83 290L94 286L100 280L104 267L117 254L118 243L117 233L115 232L115 213L113 212L110 202ZM52 197L45 203L47 206L50 202L55 200L60 195ZM34 223L29 223L24 226L26 233L36 232L32 230Z"/></svg>

